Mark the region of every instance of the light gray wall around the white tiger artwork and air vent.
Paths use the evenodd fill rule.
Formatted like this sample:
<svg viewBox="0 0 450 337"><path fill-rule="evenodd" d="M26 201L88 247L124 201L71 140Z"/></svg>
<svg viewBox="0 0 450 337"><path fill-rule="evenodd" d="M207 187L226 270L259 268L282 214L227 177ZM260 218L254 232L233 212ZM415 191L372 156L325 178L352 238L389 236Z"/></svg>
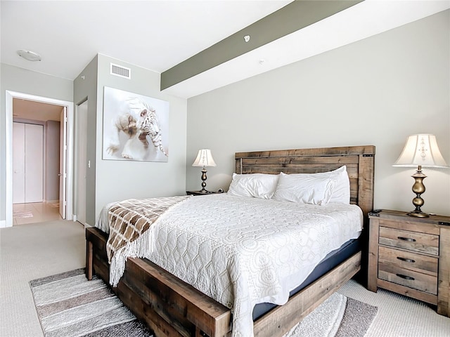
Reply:
<svg viewBox="0 0 450 337"><path fill-rule="evenodd" d="M111 75L110 62L131 68L131 79ZM91 79L94 73L97 74L96 83ZM84 80L82 76L85 77ZM169 102L168 162L102 159L104 86ZM161 93L160 74L157 72L105 55L97 55L89 65L89 70L81 72L75 79L75 103L78 104L86 97L89 98L88 159L91 160L87 184L90 198L94 197L94 201L86 201L87 223L94 225L94 219L100 213L101 207L111 201L185 193L186 99Z"/></svg>

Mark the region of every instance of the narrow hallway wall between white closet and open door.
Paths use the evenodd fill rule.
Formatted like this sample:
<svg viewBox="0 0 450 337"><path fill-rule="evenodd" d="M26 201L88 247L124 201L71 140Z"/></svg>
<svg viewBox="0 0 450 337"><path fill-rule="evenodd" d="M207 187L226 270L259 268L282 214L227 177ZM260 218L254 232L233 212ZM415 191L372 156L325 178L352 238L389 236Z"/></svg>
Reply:
<svg viewBox="0 0 450 337"><path fill-rule="evenodd" d="M46 121L45 124L45 186L46 201L59 200L59 138L60 122Z"/></svg>

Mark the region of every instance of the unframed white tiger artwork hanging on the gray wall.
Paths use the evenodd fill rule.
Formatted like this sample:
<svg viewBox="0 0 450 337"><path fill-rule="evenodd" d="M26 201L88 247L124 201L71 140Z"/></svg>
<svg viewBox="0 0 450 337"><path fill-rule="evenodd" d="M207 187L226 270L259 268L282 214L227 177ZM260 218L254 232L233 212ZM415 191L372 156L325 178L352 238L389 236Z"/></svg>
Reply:
<svg viewBox="0 0 450 337"><path fill-rule="evenodd" d="M167 161L169 102L104 87L103 159Z"/></svg>

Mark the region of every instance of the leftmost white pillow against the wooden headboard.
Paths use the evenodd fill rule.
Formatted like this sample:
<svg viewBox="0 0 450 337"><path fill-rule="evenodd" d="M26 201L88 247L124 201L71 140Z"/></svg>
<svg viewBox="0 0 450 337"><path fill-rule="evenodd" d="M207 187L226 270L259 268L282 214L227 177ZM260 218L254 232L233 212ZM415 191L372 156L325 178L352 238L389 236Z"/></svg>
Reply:
<svg viewBox="0 0 450 337"><path fill-rule="evenodd" d="M228 194L238 197L271 199L278 183L278 174L236 174L233 173Z"/></svg>

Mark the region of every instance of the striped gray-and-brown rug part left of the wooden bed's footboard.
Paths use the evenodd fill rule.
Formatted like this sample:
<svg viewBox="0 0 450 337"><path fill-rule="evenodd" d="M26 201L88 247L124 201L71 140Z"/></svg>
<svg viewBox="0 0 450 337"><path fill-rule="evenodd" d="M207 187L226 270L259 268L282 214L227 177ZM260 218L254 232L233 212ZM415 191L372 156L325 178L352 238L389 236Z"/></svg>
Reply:
<svg viewBox="0 0 450 337"><path fill-rule="evenodd" d="M30 282L45 337L150 337L101 279L84 268Z"/></svg>

